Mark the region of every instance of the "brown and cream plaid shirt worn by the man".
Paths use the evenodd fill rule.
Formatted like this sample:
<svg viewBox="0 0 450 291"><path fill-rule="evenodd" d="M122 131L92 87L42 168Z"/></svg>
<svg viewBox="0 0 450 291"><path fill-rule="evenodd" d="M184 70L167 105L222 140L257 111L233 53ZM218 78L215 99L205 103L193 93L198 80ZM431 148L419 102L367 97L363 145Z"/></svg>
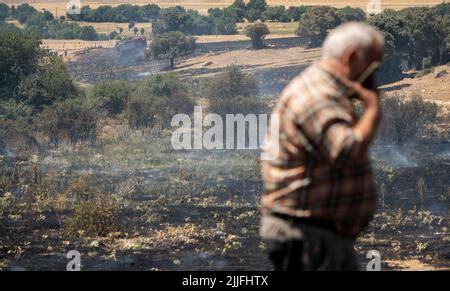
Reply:
<svg viewBox="0 0 450 291"><path fill-rule="evenodd" d="M268 131L263 147L262 213L313 217L334 224L338 234L355 238L375 210L369 160L356 160L360 138L348 87L318 64L307 68L281 94L278 150ZM273 121L272 121L273 122Z"/></svg>

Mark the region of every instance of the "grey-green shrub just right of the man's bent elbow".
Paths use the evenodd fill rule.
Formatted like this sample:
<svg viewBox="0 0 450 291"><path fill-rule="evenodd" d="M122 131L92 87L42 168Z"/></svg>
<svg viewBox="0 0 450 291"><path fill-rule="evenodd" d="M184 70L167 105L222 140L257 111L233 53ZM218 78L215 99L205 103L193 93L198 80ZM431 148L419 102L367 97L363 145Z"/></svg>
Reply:
<svg viewBox="0 0 450 291"><path fill-rule="evenodd" d="M417 137L436 122L438 108L437 104L417 95L410 99L399 95L384 97L379 137L382 141L398 144Z"/></svg>

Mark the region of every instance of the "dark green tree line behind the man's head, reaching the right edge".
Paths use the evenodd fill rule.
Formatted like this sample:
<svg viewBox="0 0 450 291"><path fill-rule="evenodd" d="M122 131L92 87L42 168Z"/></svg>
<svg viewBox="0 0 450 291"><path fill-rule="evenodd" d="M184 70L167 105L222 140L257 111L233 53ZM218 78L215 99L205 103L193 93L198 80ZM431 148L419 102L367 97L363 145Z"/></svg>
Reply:
<svg viewBox="0 0 450 291"><path fill-rule="evenodd" d="M362 17L363 15L361 15ZM347 21L366 21L385 36L385 62L379 74L381 82L402 77L407 69L426 69L450 61L450 4L386 9L361 18L350 10L313 7L299 20L297 34L307 37L311 47L318 47L328 31Z"/></svg>

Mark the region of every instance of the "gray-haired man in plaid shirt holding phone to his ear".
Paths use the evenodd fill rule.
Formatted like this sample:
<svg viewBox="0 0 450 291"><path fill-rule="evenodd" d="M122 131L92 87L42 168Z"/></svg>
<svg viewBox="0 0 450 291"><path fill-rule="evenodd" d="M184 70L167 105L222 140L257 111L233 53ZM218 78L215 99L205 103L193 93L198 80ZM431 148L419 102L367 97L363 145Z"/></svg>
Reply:
<svg viewBox="0 0 450 291"><path fill-rule="evenodd" d="M373 64L383 36L363 23L331 31L323 57L281 94L262 162L260 234L276 270L356 270L353 243L375 210L367 152L380 119ZM368 74L369 73L369 74ZM368 76L363 84L362 76ZM362 101L355 116L352 99ZM273 120L272 120L273 122Z"/></svg>

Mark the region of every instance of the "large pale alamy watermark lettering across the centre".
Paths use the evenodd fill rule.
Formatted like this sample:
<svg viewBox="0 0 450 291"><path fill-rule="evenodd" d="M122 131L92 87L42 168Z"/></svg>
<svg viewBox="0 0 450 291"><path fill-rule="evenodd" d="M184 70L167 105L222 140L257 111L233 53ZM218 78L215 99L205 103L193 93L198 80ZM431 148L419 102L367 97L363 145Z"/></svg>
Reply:
<svg viewBox="0 0 450 291"><path fill-rule="evenodd" d="M270 135L267 135L269 120ZM202 107L195 106L193 120L187 114L176 114L171 125L179 127L171 138L175 150L257 150L261 146L271 147L266 153L279 150L279 117L276 114L226 114L223 118L214 113L203 116ZM273 159L266 153L261 159Z"/></svg>

